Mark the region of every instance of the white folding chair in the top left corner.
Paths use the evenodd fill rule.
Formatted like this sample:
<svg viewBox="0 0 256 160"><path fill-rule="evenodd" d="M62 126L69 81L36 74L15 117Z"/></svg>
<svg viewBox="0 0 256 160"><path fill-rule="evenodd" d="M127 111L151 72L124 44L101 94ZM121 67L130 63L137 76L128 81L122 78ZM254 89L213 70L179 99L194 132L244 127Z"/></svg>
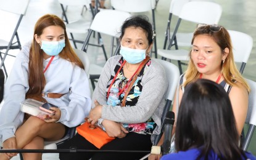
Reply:
<svg viewBox="0 0 256 160"><path fill-rule="evenodd" d="M0 38L0 58L1 58L0 68L3 67L4 73L6 74L6 78L7 78L7 71L6 71L6 66L4 66L4 60L6 59L7 55L10 55L10 54L8 54L8 51L10 49L22 49L17 30L19 28L20 22L22 22L23 16L27 12L29 2L30 2L30 0L20 0L20 1L0 0L0 10L3 10L5 12L7 12L8 14L15 14L15 15L19 16L19 20L17 20L15 23L16 25L15 25L15 29L12 33L12 36L10 36L10 40L6 41L6 40ZM10 21L15 22L15 20L10 20ZM6 22L6 23L9 24L9 22ZM7 26L7 24L6 24L6 26ZM13 23L10 23L10 25L12 25L12 24ZM15 39L16 39L16 41L15 41ZM5 51L2 51L2 50L5 50ZM4 54L4 57L2 57L2 54ZM13 55L10 55L10 56L14 57Z"/></svg>

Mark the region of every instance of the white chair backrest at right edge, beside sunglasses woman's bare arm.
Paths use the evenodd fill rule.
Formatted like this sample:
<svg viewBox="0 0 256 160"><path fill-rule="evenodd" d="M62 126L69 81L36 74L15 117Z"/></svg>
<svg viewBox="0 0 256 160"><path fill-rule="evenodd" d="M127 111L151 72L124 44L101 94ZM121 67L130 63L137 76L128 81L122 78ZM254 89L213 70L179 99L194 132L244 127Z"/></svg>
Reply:
<svg viewBox="0 0 256 160"><path fill-rule="evenodd" d="M256 82L246 79L250 86L249 105L246 116L246 124L253 124L256 126Z"/></svg>

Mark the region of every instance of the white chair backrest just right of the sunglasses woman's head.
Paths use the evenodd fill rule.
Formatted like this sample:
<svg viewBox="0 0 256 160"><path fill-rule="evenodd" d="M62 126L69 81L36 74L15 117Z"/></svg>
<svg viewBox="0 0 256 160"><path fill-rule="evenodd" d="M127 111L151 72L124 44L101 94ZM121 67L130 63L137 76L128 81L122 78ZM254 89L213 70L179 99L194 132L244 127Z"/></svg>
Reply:
<svg viewBox="0 0 256 160"><path fill-rule="evenodd" d="M230 34L232 45L234 61L242 63L240 72L244 71L244 67L249 59L250 52L252 52L253 39L246 33L239 31L228 30Z"/></svg>

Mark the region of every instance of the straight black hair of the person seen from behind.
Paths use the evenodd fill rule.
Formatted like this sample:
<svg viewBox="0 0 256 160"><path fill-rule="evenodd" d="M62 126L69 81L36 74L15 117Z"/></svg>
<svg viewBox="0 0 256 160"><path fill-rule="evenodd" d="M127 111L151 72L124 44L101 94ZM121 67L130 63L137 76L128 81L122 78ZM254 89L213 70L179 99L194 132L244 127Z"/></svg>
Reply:
<svg viewBox="0 0 256 160"><path fill-rule="evenodd" d="M198 79L188 84L178 112L175 147L177 151L199 148L197 159L242 159L236 121L228 94L219 84Z"/></svg>

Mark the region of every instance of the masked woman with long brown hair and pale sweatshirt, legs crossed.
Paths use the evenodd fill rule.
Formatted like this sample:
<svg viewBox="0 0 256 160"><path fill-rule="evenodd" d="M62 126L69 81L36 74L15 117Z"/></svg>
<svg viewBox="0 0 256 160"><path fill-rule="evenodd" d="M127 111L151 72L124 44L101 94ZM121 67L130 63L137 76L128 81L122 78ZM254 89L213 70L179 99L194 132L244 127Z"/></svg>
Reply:
<svg viewBox="0 0 256 160"><path fill-rule="evenodd" d="M22 47L4 89L0 113L0 141L4 149L43 149L44 140L64 137L68 127L84 121L91 110L91 94L84 66L76 56L64 22L44 15L35 25L34 38ZM45 100L54 115L39 119L20 111L25 98ZM17 153L0 154L10 159ZM39 153L24 153L24 159L41 159Z"/></svg>

